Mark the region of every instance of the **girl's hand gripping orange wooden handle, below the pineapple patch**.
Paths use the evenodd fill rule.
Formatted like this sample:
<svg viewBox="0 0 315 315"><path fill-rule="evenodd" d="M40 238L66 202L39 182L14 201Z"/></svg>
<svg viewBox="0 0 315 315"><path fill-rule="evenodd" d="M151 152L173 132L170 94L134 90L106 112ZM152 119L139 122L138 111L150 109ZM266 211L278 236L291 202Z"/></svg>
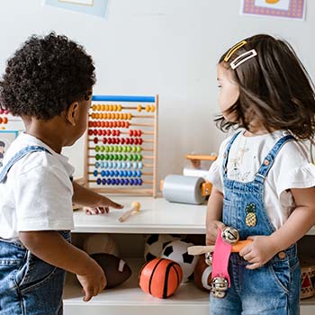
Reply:
<svg viewBox="0 0 315 315"><path fill-rule="evenodd" d="M268 236L252 236L247 239L253 241L239 252L239 256L250 263L246 266L247 269L257 269L265 265L278 252L275 244Z"/></svg>

